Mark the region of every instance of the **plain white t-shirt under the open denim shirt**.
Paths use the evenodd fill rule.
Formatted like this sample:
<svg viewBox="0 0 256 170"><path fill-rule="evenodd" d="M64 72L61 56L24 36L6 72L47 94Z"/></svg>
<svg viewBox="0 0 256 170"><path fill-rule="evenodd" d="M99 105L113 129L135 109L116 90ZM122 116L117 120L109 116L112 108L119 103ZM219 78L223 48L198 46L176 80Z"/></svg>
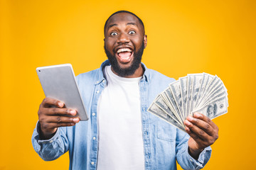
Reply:
<svg viewBox="0 0 256 170"><path fill-rule="evenodd" d="M107 86L97 105L99 150L97 170L142 170L144 147L139 78L124 78L105 67Z"/></svg>

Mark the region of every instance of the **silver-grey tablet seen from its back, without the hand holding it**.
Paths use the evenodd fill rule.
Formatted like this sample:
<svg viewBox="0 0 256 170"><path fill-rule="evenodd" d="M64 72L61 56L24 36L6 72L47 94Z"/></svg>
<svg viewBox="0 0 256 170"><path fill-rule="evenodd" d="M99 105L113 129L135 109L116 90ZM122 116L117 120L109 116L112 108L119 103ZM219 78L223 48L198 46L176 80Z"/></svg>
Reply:
<svg viewBox="0 0 256 170"><path fill-rule="evenodd" d="M77 111L80 120L88 120L71 64L38 67L36 72L46 97L63 101L66 108Z"/></svg>

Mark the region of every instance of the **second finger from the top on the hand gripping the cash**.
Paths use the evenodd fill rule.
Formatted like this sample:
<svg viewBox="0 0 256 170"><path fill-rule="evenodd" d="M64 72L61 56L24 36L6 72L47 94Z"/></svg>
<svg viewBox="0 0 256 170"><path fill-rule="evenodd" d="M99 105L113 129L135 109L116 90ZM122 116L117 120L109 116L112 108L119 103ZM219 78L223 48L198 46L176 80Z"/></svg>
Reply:
<svg viewBox="0 0 256 170"><path fill-rule="evenodd" d="M193 125L196 125L201 130L205 131L208 135L213 135L213 127L206 123L204 120L193 118L191 115L188 116L187 120Z"/></svg>

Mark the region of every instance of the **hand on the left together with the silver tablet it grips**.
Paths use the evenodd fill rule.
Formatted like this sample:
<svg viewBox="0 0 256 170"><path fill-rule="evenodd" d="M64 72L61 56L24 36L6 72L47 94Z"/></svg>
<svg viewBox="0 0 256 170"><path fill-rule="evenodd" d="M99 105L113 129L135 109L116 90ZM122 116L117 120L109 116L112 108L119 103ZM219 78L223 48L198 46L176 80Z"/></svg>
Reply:
<svg viewBox="0 0 256 170"><path fill-rule="evenodd" d="M46 98L38 110L42 138L49 139L57 128L88 120L71 64L36 69Z"/></svg>

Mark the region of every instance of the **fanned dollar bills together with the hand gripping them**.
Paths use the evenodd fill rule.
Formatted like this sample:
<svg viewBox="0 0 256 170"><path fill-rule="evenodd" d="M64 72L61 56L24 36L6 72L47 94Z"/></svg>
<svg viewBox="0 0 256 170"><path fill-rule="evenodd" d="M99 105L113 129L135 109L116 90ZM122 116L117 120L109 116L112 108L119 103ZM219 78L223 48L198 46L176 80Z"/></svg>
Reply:
<svg viewBox="0 0 256 170"><path fill-rule="evenodd" d="M189 152L197 159L218 139L218 127L212 119L228 112L227 89L217 76L188 74L169 84L148 111L186 131L191 136Z"/></svg>

